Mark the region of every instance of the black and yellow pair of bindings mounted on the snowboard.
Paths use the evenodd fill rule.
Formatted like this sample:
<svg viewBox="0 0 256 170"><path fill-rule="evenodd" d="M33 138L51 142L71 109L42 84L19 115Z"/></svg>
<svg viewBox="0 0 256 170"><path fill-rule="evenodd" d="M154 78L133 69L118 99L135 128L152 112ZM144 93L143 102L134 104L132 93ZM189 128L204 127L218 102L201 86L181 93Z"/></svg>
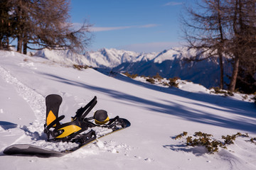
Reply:
<svg viewBox="0 0 256 170"><path fill-rule="evenodd" d="M71 118L71 122L61 124L60 120L65 118L65 115L58 116L61 103L62 98L57 94L50 94L46 97L44 132L48 137L48 141L78 142L80 145L85 145L96 139L95 131L89 131L89 128L103 127L111 128L114 131L126 126L122 119L119 119L119 116L110 119L107 111L104 110L98 110L91 118L86 118L97 103L96 96L85 107L81 107L76 111L75 116ZM94 123L92 120L94 120Z"/></svg>

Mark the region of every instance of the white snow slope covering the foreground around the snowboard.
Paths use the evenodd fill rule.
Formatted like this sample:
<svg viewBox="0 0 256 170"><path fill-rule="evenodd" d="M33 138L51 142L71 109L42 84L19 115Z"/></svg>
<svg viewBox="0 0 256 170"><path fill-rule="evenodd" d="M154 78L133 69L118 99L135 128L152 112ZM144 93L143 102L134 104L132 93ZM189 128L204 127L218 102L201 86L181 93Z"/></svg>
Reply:
<svg viewBox="0 0 256 170"><path fill-rule="evenodd" d="M1 169L256 169L255 103L242 94L223 96L199 84L178 80L178 87L149 84L142 77L107 77L94 69L74 69L66 61L0 51ZM129 58L129 55L128 55ZM128 59L127 59L128 60ZM67 143L46 142L45 98L63 97L63 123L97 96L95 111L127 118L131 127L100 138L64 157L19 157L3 154L12 144L31 143L63 149ZM186 131L206 132L215 140L237 132L228 149L209 154L205 147L186 146ZM100 132L99 132L100 133Z"/></svg>

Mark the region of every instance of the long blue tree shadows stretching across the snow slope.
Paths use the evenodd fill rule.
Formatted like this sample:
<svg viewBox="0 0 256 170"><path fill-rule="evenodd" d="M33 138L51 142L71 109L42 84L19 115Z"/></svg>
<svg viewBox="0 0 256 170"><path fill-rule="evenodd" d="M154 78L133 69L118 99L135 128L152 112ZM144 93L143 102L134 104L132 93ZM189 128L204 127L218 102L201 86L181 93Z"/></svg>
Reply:
<svg viewBox="0 0 256 170"><path fill-rule="evenodd" d="M112 98L117 98L120 101L129 101L129 103L131 105L134 104L134 106L140 104L140 106L144 106L144 108L148 109L149 111L176 115L185 120L208 125L216 125L224 128L246 130L248 132L256 131L256 114L254 103L238 101L233 98L213 94L192 93L176 88L161 88L159 86L136 82L136 84L139 84L139 86L144 86L151 90L161 91L162 93L177 96L176 101L171 101L168 98L159 98L159 102L157 102L150 101L139 96L132 96L124 93L123 91L107 89L107 87L102 88L97 85L91 86L86 82L73 81L55 76L53 74L45 75L48 76L49 79L53 79L55 81L60 81L72 86L79 86L92 91L100 91L103 94L111 96ZM186 98L186 100L182 101L182 98ZM204 109L199 109L200 107L203 107ZM215 114L215 111L230 113L230 118L227 117L227 115L221 115L220 113L217 115Z"/></svg>

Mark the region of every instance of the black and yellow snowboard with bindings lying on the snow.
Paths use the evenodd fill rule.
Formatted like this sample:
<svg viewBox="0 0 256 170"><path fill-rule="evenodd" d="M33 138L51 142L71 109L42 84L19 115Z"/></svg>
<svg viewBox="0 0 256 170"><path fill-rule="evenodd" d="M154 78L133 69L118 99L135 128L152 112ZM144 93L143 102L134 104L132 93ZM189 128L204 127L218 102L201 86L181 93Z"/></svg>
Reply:
<svg viewBox="0 0 256 170"><path fill-rule="evenodd" d="M59 152L36 145L16 144L6 147L6 149L4 149L4 154L61 157L94 142L100 137L109 135L112 132L123 130L131 125L129 120L119 118L119 116L110 119L107 116L107 111L104 110L96 111L92 118L85 118L97 103L96 96L92 101L90 101L90 103L87 103L84 108L78 109L75 117L72 118L70 123L61 124L60 120L64 118L64 115L58 117L58 111L62 101L63 99L58 94L50 94L46 97L46 124L44 132L48 135L48 142L75 142L78 144L78 147L73 147ZM92 123L93 120L95 123ZM110 131L105 135L99 136L94 130L90 130L90 132L85 133L84 131L89 128L107 128L110 129Z"/></svg>

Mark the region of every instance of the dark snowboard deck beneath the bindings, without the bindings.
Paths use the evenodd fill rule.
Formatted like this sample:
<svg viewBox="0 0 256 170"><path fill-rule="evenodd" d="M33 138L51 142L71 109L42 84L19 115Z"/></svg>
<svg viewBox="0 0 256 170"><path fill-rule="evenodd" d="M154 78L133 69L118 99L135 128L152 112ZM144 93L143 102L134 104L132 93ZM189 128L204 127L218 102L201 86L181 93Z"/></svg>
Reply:
<svg viewBox="0 0 256 170"><path fill-rule="evenodd" d="M97 137L95 140L91 140L91 141L85 143L84 145L80 145L80 146L72 148L72 149L68 149L68 150L59 152L59 151L55 151L52 149L46 149L43 147L39 147L36 145L16 144L16 145L11 145L9 147L6 147L6 149L4 149L4 154L19 155L19 156L37 156L37 157L62 157L65 154L75 152L76 150L80 149L81 147L85 147L85 145L95 142L97 139L105 137L106 135L110 135L113 132L118 132L120 130L128 128L131 125L131 123L127 119L119 118L119 120L122 120L124 123L122 125L122 128L114 128L114 129L112 129L112 132L109 132L105 135Z"/></svg>

